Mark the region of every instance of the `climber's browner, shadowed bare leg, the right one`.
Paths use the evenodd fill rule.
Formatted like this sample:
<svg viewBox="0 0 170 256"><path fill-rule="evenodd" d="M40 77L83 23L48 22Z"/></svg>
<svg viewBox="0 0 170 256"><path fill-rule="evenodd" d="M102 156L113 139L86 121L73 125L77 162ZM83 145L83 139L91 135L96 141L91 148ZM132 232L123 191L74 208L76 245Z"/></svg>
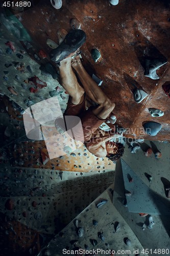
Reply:
<svg viewBox="0 0 170 256"><path fill-rule="evenodd" d="M89 76L79 56L72 61L71 66L78 75L88 97L99 105L93 110L94 115L100 119L106 119L113 111L115 104L111 102L98 84Z"/></svg>

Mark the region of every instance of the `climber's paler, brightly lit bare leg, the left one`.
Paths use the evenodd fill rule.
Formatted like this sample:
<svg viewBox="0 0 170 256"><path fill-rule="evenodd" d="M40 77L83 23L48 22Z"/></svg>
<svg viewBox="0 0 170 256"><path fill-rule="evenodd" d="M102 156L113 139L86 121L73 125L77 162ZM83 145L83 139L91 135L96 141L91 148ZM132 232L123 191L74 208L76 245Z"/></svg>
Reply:
<svg viewBox="0 0 170 256"><path fill-rule="evenodd" d="M71 57L60 61L60 82L68 92L73 104L81 104L84 99L84 89L77 81L75 73L71 68Z"/></svg>

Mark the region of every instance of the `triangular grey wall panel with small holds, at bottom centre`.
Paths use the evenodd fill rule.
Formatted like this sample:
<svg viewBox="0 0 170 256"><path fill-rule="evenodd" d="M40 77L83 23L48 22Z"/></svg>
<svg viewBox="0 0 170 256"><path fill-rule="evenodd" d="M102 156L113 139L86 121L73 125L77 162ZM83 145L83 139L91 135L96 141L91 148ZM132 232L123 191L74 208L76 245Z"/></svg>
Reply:
<svg viewBox="0 0 170 256"><path fill-rule="evenodd" d="M130 251L128 252L129 255L136 254L133 251L134 249L139 249L139 251L141 251L142 246L135 234L112 205L111 192L112 186L104 191L104 193L87 206L81 214L61 230L61 232L41 250L38 256L60 256L62 255L62 250L64 248L74 250L75 247L82 249L87 248L87 250L103 249L106 251L105 254L109 254L109 249L114 250L115 254L120 250L122 255L126 250ZM101 208L97 208L96 204L98 204L101 199L106 199L108 201ZM76 220L78 220L78 227L75 226ZM98 224L93 225L93 220L96 220ZM115 226L118 222L120 228L115 232ZM84 235L82 237L78 236L78 229L80 227L84 229ZM100 238L100 234L103 234L103 240ZM127 246L125 243L125 238L131 240L130 246ZM101 251L98 251L98 253L98 255L101 255ZM143 253L143 255L148 254Z"/></svg>

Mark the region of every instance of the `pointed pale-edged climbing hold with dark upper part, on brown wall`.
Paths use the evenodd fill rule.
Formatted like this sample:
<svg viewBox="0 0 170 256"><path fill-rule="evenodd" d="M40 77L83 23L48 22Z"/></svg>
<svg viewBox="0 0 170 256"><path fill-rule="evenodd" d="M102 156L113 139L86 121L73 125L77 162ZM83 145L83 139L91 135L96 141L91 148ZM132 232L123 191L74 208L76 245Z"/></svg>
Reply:
<svg viewBox="0 0 170 256"><path fill-rule="evenodd" d="M165 59L145 59L144 76L150 77L151 79L159 79L156 71L167 63Z"/></svg>

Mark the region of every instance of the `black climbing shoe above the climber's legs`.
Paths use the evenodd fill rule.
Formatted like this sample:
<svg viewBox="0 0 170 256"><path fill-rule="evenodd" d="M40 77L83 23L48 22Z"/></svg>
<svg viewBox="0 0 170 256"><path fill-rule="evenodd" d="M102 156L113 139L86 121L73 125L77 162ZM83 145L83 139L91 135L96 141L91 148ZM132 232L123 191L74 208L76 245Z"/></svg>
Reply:
<svg viewBox="0 0 170 256"><path fill-rule="evenodd" d="M70 31L64 41L56 49L50 52L52 61L58 63L65 59L69 54L75 53L86 41L86 34L81 29ZM73 54L74 55L74 54Z"/></svg>

